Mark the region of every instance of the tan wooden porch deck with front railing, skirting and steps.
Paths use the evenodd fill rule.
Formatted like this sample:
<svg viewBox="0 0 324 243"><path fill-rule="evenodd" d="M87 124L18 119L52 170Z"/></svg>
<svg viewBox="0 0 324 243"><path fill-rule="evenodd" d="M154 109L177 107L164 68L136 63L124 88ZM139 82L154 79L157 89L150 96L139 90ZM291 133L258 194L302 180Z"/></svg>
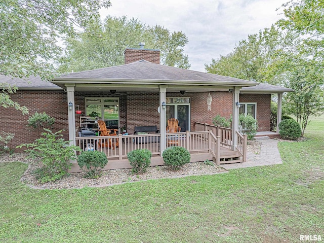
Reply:
<svg viewBox="0 0 324 243"><path fill-rule="evenodd" d="M190 162L214 160L215 156L211 153L210 132L184 132L171 133L167 135L167 146L175 145L186 148L191 154ZM189 137L189 138L188 138ZM118 140L119 146L114 147ZM135 149L148 149L152 153L151 166L163 165L164 161L159 150L160 134L128 135L128 136L107 136L107 137L77 137L77 145L87 150L102 151L107 155L107 169L131 168L127 154ZM220 163L242 162L241 154L232 151L230 144L220 146ZM77 163L72 163L69 172L79 172Z"/></svg>

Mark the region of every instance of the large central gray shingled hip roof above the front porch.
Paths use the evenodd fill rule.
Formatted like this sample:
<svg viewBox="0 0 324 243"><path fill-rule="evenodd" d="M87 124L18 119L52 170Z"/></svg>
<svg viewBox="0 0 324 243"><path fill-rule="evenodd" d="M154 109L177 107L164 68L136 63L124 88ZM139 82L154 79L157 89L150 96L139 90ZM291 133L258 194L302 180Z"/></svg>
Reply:
<svg viewBox="0 0 324 243"><path fill-rule="evenodd" d="M133 79L133 80L168 80L168 81L214 81L251 83L253 81L225 77L215 74L207 74L178 67L155 64L146 60L135 61L125 65L104 67L96 70L84 71L62 75L56 80L65 79Z"/></svg>

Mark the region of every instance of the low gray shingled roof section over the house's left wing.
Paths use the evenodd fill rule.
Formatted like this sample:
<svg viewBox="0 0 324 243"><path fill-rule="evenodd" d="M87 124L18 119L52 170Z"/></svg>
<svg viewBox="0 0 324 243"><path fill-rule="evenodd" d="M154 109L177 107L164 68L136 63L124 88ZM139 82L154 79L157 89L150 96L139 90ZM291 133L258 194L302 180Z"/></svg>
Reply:
<svg viewBox="0 0 324 243"><path fill-rule="evenodd" d="M5 75L0 75L0 83L7 83L10 85L15 85L20 89L30 89L30 90L39 90L39 89L62 89L61 87L53 84L49 81L41 80L39 76L30 76L27 80L11 78Z"/></svg>

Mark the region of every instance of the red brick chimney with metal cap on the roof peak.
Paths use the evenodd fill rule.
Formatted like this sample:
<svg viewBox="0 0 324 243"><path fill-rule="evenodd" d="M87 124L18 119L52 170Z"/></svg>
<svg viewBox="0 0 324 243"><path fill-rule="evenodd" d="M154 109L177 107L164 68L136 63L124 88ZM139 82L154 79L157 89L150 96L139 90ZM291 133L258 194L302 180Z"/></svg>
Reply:
<svg viewBox="0 0 324 243"><path fill-rule="evenodd" d="M146 60L156 64L160 64L160 51L154 49L144 49L144 42L139 43L140 48L126 48L124 51L125 64Z"/></svg>

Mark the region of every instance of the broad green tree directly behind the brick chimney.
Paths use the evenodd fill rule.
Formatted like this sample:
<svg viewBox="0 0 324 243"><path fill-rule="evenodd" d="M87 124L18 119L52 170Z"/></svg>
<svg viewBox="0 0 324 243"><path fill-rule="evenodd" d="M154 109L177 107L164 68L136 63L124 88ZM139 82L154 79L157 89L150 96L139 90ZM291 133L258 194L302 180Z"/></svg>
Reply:
<svg viewBox="0 0 324 243"><path fill-rule="evenodd" d="M65 40L67 51L59 62L59 71L79 72L124 64L125 48L138 47L143 41L145 48L160 50L162 64L190 67L183 50L188 39L181 31L170 33L158 25L146 26L138 19L107 16L104 21L95 19L84 32Z"/></svg>

